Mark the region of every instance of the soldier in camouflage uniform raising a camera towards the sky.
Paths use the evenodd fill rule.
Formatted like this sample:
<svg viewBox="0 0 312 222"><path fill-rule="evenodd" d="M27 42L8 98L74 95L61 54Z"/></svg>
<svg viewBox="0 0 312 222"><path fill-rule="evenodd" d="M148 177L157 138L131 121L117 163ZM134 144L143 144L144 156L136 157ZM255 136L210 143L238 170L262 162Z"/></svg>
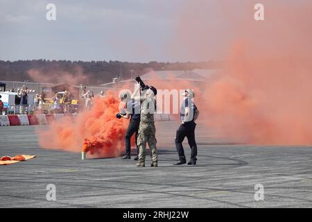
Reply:
<svg viewBox="0 0 312 222"><path fill-rule="evenodd" d="M133 95L137 94L139 87L136 89ZM137 167L145 167L146 158L146 143L150 147L150 158L152 164L150 167L157 167L158 155L156 148L156 128L154 122L154 112L156 110L155 95L157 89L151 86L142 92L142 96L139 96L141 102L141 121L139 125L139 135L137 137L137 146L139 146L139 162ZM137 98L134 96L134 98Z"/></svg>

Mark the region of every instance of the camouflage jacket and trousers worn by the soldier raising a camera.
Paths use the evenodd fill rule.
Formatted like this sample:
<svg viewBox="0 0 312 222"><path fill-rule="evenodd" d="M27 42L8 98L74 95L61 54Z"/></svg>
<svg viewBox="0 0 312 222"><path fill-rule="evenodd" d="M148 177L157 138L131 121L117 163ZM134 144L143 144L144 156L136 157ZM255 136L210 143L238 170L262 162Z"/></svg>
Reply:
<svg viewBox="0 0 312 222"><path fill-rule="evenodd" d="M137 146L139 146L139 163L145 164L146 143L150 147L150 158L153 164L157 164L158 155L156 148L156 128L154 123L155 109L149 109L150 105L155 106L155 99L141 99L141 121L139 126L139 136L137 137ZM150 110L153 110L150 113Z"/></svg>

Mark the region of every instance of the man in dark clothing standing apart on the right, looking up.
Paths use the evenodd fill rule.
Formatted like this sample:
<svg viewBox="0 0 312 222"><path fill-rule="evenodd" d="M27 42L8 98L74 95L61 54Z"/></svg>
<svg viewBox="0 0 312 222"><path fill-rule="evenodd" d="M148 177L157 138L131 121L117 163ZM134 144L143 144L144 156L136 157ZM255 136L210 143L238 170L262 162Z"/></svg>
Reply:
<svg viewBox="0 0 312 222"><path fill-rule="evenodd" d="M184 148L182 146L182 142L185 137L187 137L191 148L191 160L187 164L196 165L197 145L195 140L195 121L198 118L199 110L193 103L194 92L192 89L186 89L184 96L185 99L180 109L180 121L182 124L179 128L177 128L177 134L175 137L175 148L177 149L177 154L179 155L179 160L175 163L175 165L187 163L184 155Z"/></svg>

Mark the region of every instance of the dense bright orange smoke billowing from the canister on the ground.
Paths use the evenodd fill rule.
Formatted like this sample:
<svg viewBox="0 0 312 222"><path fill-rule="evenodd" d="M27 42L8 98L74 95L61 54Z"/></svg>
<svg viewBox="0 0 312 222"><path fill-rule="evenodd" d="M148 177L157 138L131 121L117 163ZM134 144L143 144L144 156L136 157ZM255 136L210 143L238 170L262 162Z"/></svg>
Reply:
<svg viewBox="0 0 312 222"><path fill-rule="evenodd" d="M88 152L92 157L116 157L124 150L128 121L116 119L119 99L111 91L95 98L92 110L77 117L55 121L48 130L39 131L40 146L73 152Z"/></svg>

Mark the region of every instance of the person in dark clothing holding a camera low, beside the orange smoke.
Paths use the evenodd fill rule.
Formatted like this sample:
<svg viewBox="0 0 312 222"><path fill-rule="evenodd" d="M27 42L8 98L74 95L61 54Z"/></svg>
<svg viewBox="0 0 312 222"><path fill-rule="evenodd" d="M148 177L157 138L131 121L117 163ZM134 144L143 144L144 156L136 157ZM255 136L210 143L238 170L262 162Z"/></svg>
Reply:
<svg viewBox="0 0 312 222"><path fill-rule="evenodd" d="M135 144L137 146L137 135L139 130L139 124L141 120L140 114L140 104L139 101L131 99L130 92L122 92L119 95L121 101L125 102L125 110L116 114L117 118L125 118L130 119L128 129L125 133L125 155L123 155L122 159L131 159L131 137L135 134ZM138 160L139 148L137 146L137 157L135 160Z"/></svg>

